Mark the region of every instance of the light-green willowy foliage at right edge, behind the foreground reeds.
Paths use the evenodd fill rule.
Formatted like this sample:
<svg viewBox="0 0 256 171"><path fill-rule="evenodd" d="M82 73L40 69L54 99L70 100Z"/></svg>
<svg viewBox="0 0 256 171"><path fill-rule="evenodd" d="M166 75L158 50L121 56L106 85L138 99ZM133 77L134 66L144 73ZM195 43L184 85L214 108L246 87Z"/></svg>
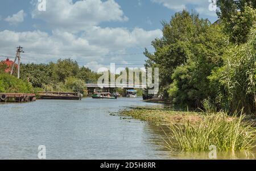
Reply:
<svg viewBox="0 0 256 171"><path fill-rule="evenodd" d="M251 28L245 44L232 45L225 52L224 65L209 76L210 89L217 89L215 103L228 112L256 111L256 24Z"/></svg>

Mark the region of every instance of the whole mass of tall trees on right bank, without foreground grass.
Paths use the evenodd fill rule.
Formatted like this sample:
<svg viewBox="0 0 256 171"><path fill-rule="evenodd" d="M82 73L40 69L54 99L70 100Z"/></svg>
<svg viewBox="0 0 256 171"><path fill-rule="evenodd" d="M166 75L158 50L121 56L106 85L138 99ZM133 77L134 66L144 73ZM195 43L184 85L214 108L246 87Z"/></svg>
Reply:
<svg viewBox="0 0 256 171"><path fill-rule="evenodd" d="M217 6L213 24L185 10L163 22L155 52L144 52L145 66L159 68L160 94L180 109L255 114L255 1Z"/></svg>

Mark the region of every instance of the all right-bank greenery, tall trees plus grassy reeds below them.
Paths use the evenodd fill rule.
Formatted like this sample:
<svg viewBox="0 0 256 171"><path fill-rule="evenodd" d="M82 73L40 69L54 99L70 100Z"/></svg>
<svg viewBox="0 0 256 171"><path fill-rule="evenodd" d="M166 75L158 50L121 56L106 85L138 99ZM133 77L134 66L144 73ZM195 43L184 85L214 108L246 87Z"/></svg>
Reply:
<svg viewBox="0 0 256 171"><path fill-rule="evenodd" d="M122 115L170 129L170 150L241 151L255 147L256 3L217 0L215 23L188 11L163 22L163 37L146 49L146 68L159 68L160 92L174 109L132 109ZM201 112L188 112L188 110ZM248 121L247 118L253 118ZM246 119L245 119L246 118Z"/></svg>

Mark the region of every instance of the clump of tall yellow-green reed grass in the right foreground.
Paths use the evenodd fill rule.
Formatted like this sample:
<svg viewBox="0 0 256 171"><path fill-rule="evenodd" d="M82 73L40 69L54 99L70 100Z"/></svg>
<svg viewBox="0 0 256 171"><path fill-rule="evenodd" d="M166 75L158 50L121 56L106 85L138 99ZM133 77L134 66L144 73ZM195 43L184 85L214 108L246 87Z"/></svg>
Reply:
<svg viewBox="0 0 256 171"><path fill-rule="evenodd" d="M209 114L196 124L171 124L165 147L186 152L209 151L215 145L219 151L242 151L255 147L256 131L245 115L230 117L224 112Z"/></svg>

